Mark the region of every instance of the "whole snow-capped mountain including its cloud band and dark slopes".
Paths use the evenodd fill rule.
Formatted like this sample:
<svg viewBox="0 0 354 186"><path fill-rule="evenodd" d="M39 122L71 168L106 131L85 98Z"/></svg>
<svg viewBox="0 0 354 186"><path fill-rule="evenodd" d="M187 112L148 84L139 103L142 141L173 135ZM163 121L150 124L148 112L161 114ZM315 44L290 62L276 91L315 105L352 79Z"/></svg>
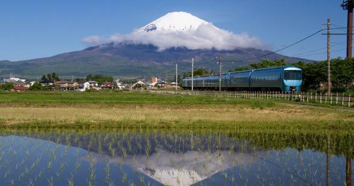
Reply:
<svg viewBox="0 0 354 186"><path fill-rule="evenodd" d="M217 64L207 63L222 53L225 59L241 62L223 63L228 71L261 60L285 58L287 62L309 61L270 53L259 38L247 34L234 34L215 27L186 12L171 12L135 29L130 34L113 34L109 38L89 36L83 39L91 46L80 51L24 61L0 61L0 75L16 73L24 77L39 77L56 72L59 76L85 77L88 74L115 76L165 75L179 64L181 73L188 72L189 61L195 67L217 71ZM172 74L170 74L172 76Z"/></svg>

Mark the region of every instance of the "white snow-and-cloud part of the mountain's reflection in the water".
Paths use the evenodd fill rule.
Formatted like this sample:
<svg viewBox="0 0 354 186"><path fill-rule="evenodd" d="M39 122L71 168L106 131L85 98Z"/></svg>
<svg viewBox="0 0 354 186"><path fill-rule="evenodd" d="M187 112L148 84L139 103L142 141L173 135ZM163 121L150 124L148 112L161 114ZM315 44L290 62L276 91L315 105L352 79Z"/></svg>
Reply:
<svg viewBox="0 0 354 186"><path fill-rule="evenodd" d="M235 165L249 164L252 156L249 153L231 151L173 153L158 150L148 157L112 157L109 162L129 164L162 184L179 186L195 184Z"/></svg>

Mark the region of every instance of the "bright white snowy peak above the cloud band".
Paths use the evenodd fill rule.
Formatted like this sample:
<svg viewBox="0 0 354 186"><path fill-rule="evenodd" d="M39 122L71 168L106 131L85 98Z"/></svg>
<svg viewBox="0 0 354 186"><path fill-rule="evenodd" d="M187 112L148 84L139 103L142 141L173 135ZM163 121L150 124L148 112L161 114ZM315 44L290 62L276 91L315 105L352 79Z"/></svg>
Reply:
<svg viewBox="0 0 354 186"><path fill-rule="evenodd" d="M185 32L208 22L187 12L170 12L136 30L136 32Z"/></svg>

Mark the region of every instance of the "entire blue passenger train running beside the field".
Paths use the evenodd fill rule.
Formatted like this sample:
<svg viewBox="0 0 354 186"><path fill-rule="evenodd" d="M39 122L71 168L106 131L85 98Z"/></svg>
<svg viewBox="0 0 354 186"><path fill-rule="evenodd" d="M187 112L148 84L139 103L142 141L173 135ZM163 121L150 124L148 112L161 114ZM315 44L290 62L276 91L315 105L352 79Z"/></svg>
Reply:
<svg viewBox="0 0 354 186"><path fill-rule="evenodd" d="M222 90L299 92L301 84L301 69L290 65L229 72L221 75ZM191 77L182 80L182 88L192 89ZM193 89L219 90L219 75L194 77Z"/></svg>

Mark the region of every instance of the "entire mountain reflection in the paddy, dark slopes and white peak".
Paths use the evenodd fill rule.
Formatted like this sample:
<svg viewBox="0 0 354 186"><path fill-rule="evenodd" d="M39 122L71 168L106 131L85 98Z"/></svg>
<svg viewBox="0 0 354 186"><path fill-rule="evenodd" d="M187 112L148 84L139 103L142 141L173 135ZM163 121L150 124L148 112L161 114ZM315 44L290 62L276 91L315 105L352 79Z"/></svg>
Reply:
<svg viewBox="0 0 354 186"><path fill-rule="evenodd" d="M247 147L248 142L233 140L223 135L182 134L177 137L177 135L114 134L106 137L92 134L76 137L74 135L30 135L30 137L81 147L95 152L96 158L104 161L105 158L100 154L102 152L108 155L110 163L130 165L165 185L194 184L235 165L250 163L253 160L251 154L259 153L255 152L258 150ZM109 145L111 141L115 141L115 145ZM127 143L131 143L130 150ZM148 153L147 146L151 149ZM114 156L111 156L112 148L116 149ZM126 157L124 152L127 154Z"/></svg>

